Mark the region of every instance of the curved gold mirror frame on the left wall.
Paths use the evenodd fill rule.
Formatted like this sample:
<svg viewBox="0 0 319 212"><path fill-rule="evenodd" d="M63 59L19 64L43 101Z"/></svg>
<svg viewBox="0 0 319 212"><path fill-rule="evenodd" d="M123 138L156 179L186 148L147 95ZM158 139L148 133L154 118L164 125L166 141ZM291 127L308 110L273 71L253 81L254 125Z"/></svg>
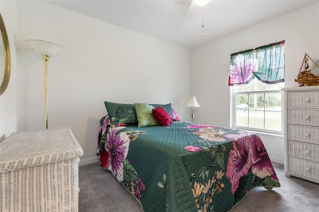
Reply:
<svg viewBox="0 0 319 212"><path fill-rule="evenodd" d="M8 87L10 80L10 68L11 68L11 58L10 58L10 48L9 48L9 40L8 35L6 34L5 25L0 13L0 30L2 34L3 46L4 46L4 75L3 80L0 86L0 95L4 93L6 88ZM0 64L3 68L3 65Z"/></svg>

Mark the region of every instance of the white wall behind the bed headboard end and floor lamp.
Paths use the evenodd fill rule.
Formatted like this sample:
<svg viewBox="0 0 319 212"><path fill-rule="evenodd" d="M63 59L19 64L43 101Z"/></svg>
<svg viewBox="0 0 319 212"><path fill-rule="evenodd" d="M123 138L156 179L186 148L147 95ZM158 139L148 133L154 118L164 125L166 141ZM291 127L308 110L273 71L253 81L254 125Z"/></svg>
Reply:
<svg viewBox="0 0 319 212"><path fill-rule="evenodd" d="M190 93L190 50L42 1L17 1L19 38L63 46L48 62L48 126L71 128L97 160L104 101L172 103L182 119ZM27 29L27 34L19 33ZM19 130L44 128L44 65L31 49L18 49Z"/></svg>

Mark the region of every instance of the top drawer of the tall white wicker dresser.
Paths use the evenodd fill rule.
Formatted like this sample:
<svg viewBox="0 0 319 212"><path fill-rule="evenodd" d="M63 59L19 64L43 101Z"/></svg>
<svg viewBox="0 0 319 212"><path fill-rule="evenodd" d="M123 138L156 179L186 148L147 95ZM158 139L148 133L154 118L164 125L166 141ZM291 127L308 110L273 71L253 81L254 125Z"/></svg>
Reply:
<svg viewBox="0 0 319 212"><path fill-rule="evenodd" d="M288 107L319 108L318 92L289 92Z"/></svg>

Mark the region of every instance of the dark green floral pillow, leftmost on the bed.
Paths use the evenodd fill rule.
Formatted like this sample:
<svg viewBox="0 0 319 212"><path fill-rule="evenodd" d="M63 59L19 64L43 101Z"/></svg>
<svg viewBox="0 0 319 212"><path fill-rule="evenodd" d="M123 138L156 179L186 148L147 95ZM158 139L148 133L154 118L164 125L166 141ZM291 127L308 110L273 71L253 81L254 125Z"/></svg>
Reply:
<svg viewBox="0 0 319 212"><path fill-rule="evenodd" d="M104 102L104 105L110 117L110 124L115 126L138 124L134 104Z"/></svg>

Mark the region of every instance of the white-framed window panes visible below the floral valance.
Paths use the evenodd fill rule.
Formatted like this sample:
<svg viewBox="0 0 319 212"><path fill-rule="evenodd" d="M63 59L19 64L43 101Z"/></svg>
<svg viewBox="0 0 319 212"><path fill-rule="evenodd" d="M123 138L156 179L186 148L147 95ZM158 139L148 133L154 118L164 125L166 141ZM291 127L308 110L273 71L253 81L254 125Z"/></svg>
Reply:
<svg viewBox="0 0 319 212"><path fill-rule="evenodd" d="M233 87L233 127L282 133L282 91L284 83L265 84L253 79Z"/></svg>

